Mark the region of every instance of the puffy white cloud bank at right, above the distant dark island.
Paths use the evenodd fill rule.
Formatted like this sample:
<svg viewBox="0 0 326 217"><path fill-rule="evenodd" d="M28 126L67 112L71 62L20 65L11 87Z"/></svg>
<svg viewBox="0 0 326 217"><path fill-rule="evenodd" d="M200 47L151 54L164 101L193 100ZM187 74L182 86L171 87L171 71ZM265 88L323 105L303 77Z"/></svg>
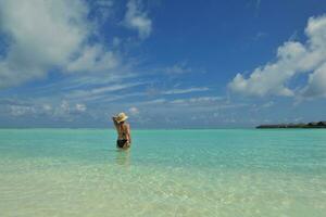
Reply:
<svg viewBox="0 0 326 217"><path fill-rule="evenodd" d="M326 15L309 18L305 43L287 41L277 50L277 61L256 67L249 78L237 74L228 87L247 95L321 97L326 95ZM308 74L306 87L287 85L298 74ZM296 88L298 89L298 88Z"/></svg>

